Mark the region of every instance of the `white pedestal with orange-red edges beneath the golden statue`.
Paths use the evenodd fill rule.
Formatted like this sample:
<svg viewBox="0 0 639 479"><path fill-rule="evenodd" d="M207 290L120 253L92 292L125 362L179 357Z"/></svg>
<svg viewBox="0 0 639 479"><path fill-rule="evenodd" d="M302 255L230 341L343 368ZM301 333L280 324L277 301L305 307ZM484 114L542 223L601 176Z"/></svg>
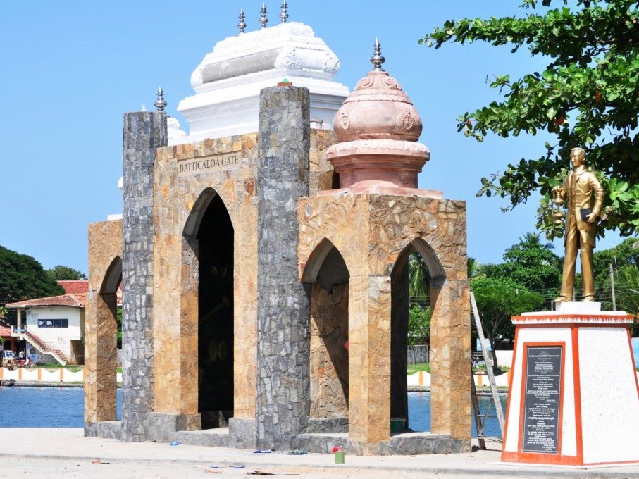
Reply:
<svg viewBox="0 0 639 479"><path fill-rule="evenodd" d="M516 325L502 461L639 462L639 385L626 313L563 303Z"/></svg>

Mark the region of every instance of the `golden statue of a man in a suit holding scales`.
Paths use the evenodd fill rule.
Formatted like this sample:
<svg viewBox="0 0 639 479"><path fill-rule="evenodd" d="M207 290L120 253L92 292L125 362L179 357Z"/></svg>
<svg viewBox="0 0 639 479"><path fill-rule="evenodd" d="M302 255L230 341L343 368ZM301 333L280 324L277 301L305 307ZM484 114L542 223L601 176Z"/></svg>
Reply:
<svg viewBox="0 0 639 479"><path fill-rule="evenodd" d="M581 250L581 275L583 278L583 301L595 300L595 280L593 278L593 248L597 236L595 221L601 214L604 190L597 177L585 167L585 150L573 148L570 151L573 170L562 186L554 187L553 193L566 200L566 231L564 234L564 274L562 275L561 296L555 302L573 301L575 283L575 263L577 250Z"/></svg>

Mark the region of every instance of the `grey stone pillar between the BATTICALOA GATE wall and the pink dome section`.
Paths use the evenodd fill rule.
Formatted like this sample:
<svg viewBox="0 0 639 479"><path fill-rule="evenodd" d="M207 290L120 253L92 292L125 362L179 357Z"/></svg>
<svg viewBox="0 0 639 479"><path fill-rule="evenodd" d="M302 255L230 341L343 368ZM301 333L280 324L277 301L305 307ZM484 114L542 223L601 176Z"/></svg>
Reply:
<svg viewBox="0 0 639 479"><path fill-rule="evenodd" d="M258 447L290 449L309 420L309 294L297 273L297 200L309 194L309 90L260 94L257 183Z"/></svg>

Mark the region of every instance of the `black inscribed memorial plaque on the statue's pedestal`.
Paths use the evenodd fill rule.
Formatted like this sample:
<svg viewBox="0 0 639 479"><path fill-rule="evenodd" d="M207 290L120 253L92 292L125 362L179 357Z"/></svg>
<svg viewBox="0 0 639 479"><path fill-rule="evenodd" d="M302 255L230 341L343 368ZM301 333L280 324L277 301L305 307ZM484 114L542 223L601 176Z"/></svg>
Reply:
<svg viewBox="0 0 639 479"><path fill-rule="evenodd" d="M526 348L523 452L557 454L562 346Z"/></svg>

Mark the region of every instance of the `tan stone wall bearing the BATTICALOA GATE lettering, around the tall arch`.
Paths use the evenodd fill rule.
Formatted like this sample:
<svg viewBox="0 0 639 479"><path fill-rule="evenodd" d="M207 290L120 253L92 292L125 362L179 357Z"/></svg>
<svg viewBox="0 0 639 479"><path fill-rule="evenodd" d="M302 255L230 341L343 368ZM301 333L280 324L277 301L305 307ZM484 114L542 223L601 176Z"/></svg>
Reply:
<svg viewBox="0 0 639 479"><path fill-rule="evenodd" d="M153 332L154 411L158 413L198 414L197 232L206 207L218 195L234 229L234 416L255 416L257 165L256 134L158 151ZM178 424L193 428L197 421L185 419Z"/></svg>

